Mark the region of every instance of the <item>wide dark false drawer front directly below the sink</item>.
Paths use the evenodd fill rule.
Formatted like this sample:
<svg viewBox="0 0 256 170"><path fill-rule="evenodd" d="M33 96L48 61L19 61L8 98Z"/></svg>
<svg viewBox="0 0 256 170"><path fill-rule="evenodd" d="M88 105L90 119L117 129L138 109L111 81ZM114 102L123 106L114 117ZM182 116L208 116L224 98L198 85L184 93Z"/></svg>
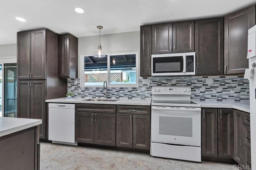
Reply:
<svg viewBox="0 0 256 170"><path fill-rule="evenodd" d="M76 112L116 113L116 105L110 104L76 104Z"/></svg>

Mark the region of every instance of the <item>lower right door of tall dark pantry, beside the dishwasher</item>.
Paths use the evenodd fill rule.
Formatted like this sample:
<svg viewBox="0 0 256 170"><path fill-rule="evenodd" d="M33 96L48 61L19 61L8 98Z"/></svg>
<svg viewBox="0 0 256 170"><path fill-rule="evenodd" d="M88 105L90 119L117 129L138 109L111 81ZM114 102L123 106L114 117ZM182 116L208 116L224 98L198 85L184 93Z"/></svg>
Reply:
<svg viewBox="0 0 256 170"><path fill-rule="evenodd" d="M46 137L46 113L45 113L45 80L31 81L31 118L42 119L42 124L39 125L39 137Z"/></svg>

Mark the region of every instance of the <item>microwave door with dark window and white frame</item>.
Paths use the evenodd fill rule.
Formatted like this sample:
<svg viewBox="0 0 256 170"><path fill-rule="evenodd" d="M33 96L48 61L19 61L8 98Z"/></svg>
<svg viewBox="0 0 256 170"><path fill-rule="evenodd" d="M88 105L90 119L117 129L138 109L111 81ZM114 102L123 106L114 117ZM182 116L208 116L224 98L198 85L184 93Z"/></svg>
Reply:
<svg viewBox="0 0 256 170"><path fill-rule="evenodd" d="M152 55L152 76L186 75L185 59L185 53Z"/></svg>

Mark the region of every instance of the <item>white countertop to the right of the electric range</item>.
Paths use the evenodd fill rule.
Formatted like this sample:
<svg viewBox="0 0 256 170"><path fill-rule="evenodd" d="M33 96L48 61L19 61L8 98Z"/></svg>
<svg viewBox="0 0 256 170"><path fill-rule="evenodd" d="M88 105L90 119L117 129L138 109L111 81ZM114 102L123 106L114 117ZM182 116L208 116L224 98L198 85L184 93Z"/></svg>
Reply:
<svg viewBox="0 0 256 170"><path fill-rule="evenodd" d="M201 107L237 109L250 113L250 102L193 101Z"/></svg>

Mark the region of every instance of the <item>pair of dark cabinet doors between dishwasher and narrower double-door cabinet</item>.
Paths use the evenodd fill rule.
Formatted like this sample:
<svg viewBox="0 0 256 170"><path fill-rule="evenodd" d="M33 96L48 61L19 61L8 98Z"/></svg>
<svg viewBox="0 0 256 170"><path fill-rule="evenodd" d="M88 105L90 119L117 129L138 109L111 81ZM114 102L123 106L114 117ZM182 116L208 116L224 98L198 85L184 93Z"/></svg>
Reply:
<svg viewBox="0 0 256 170"><path fill-rule="evenodd" d="M116 114L76 112L76 141L116 146Z"/></svg>

